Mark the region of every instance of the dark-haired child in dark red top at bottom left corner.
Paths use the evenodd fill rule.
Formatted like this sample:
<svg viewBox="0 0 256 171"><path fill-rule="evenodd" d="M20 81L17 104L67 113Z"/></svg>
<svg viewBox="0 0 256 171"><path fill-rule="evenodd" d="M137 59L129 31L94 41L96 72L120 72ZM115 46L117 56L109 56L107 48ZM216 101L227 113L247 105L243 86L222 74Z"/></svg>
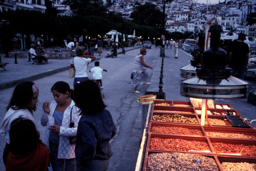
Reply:
<svg viewBox="0 0 256 171"><path fill-rule="evenodd" d="M32 120L18 121L10 130L10 153L6 171L47 171L50 163L49 151L39 139Z"/></svg>

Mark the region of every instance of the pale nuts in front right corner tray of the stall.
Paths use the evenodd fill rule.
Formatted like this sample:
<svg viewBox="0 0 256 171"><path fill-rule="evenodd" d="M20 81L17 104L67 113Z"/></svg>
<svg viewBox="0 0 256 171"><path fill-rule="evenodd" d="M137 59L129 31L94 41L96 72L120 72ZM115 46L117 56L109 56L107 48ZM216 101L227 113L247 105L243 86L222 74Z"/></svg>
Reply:
<svg viewBox="0 0 256 171"><path fill-rule="evenodd" d="M241 171L255 171L256 163L247 163L247 162L222 162L221 166L224 171L226 170L241 170Z"/></svg>

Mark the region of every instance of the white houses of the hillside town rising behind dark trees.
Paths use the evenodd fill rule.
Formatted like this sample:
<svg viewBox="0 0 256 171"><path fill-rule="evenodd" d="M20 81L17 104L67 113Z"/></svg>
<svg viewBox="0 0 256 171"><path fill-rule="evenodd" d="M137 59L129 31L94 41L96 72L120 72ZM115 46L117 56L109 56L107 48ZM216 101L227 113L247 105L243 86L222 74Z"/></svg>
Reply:
<svg viewBox="0 0 256 171"><path fill-rule="evenodd" d="M0 10L26 9L45 12L45 10L54 6L58 10L58 15L72 16L69 6L62 5L63 0L2 0L0 1ZM219 1L219 4L199 4L196 0L174 0L166 1L122 1L112 0L105 5L109 5L108 10L115 13L121 13L125 18L131 19L130 15L139 4L152 3L157 9L163 11L165 4L165 30L172 32L195 32L212 16L217 15L219 25L224 29L236 33L245 33L249 40L256 39L256 23L248 25L246 18L250 13L256 12L256 0L225 0Z"/></svg>

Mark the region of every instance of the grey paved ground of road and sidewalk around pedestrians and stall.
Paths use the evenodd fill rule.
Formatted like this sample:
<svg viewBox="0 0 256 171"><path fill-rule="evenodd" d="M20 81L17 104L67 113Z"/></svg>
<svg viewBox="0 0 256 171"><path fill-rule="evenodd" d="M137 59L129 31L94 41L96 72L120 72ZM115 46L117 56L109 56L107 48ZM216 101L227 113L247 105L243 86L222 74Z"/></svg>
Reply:
<svg viewBox="0 0 256 171"><path fill-rule="evenodd" d="M151 85L141 85L138 90L141 94L134 94L131 86L131 69L133 60L139 49L126 52L125 55L118 55L117 58L101 58L100 66L108 70L103 73L103 87L104 87L104 102L108 105L107 109L112 113L118 133L111 141L111 146L114 155L111 158L109 169L130 171L134 170L139 152L139 144L141 138L141 105L135 102L136 97L143 95L145 91L158 91L159 77L161 70L162 58L159 57L160 49L153 48L147 50L145 57L146 63L153 66L153 70L149 70ZM187 97L180 95L180 67L189 63L191 56L184 51L179 51L179 58L174 59L173 50L165 50L166 57L163 65L163 91L166 94L166 100L173 101L189 101ZM13 60L2 58L2 61ZM38 130L41 137L44 136L44 128L40 126L40 114L42 112L41 105L46 100L53 100L50 92L51 86L59 80L68 82L73 85L73 79L68 78L68 70L58 72L56 74L49 74L56 69L67 67L70 60L50 60L49 65L32 65L27 62L27 59L18 59L18 64L9 62L7 71L0 70L0 77L5 78L5 81L0 80L0 85L4 86L7 80L22 79L26 75L27 78L33 79L35 84L39 87L39 102L38 109L34 113ZM89 64L88 70L93 67L93 63ZM43 77L42 72L47 72L49 76ZM5 76L9 75L9 76ZM33 78L34 75L39 79ZM89 74L91 77L91 74ZM15 77L15 78L13 78ZM43 77L43 78L42 78ZM4 82L4 83L3 83ZM5 115L4 108L7 106L13 87L0 90L0 121ZM215 100L215 103L228 103L245 117L256 119L255 106L248 104L246 99L241 100ZM254 122L256 123L256 122ZM256 124L254 124L254 127ZM0 137L1 148L0 155L3 153L5 145L5 137ZM3 162L0 163L0 170L4 170Z"/></svg>

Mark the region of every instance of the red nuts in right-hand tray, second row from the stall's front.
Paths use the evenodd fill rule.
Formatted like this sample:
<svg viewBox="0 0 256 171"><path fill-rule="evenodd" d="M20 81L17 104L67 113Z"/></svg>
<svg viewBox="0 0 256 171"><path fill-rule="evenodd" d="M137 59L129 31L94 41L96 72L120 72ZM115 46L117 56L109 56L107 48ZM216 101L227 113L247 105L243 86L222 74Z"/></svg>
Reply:
<svg viewBox="0 0 256 171"><path fill-rule="evenodd" d="M242 156L256 156L256 145L230 144L211 142L216 153L241 154Z"/></svg>

